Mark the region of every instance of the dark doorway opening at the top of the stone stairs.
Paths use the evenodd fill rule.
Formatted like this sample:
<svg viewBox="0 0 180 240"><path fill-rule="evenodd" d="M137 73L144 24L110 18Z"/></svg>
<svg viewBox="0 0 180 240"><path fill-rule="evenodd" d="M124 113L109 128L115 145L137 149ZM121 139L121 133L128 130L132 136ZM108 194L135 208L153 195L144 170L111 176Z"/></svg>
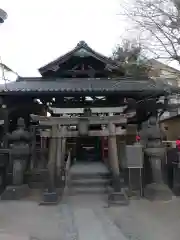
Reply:
<svg viewBox="0 0 180 240"><path fill-rule="evenodd" d="M99 137L79 137L76 143L76 160L83 162L101 161Z"/></svg>

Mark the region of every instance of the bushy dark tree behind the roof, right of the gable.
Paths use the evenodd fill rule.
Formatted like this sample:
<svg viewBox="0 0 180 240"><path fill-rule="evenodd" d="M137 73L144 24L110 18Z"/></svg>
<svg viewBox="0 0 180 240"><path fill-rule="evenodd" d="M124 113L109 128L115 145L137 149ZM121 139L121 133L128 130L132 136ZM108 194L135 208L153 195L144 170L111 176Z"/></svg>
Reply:
<svg viewBox="0 0 180 240"><path fill-rule="evenodd" d="M126 76L148 76L151 70L141 44L136 41L124 40L116 46L112 58L121 63Z"/></svg>

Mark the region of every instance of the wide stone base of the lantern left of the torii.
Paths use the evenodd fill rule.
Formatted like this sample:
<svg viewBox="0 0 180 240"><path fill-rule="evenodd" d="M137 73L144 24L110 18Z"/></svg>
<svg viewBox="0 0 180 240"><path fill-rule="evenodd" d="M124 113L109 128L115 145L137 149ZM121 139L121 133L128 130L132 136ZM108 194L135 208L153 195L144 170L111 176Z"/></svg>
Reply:
<svg viewBox="0 0 180 240"><path fill-rule="evenodd" d="M29 186L26 184L20 186L7 186L1 195L1 200L20 200L29 194Z"/></svg>

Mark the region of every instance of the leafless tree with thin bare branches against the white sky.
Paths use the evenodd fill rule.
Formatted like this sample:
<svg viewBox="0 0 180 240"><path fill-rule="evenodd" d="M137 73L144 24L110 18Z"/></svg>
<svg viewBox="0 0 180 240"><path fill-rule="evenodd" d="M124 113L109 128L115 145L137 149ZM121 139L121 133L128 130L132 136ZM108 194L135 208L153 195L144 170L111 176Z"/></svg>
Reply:
<svg viewBox="0 0 180 240"><path fill-rule="evenodd" d="M133 23L143 48L153 57L180 64L179 0L132 0L122 4L121 15Z"/></svg>

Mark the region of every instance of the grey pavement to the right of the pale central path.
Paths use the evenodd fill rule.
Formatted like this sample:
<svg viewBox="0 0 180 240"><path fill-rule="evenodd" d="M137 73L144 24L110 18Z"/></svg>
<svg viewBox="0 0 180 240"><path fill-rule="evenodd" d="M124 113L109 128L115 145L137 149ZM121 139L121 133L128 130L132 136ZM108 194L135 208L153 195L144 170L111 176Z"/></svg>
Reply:
<svg viewBox="0 0 180 240"><path fill-rule="evenodd" d="M128 207L107 209L107 214L128 239L180 239L180 199L178 198L168 202L134 200Z"/></svg>

